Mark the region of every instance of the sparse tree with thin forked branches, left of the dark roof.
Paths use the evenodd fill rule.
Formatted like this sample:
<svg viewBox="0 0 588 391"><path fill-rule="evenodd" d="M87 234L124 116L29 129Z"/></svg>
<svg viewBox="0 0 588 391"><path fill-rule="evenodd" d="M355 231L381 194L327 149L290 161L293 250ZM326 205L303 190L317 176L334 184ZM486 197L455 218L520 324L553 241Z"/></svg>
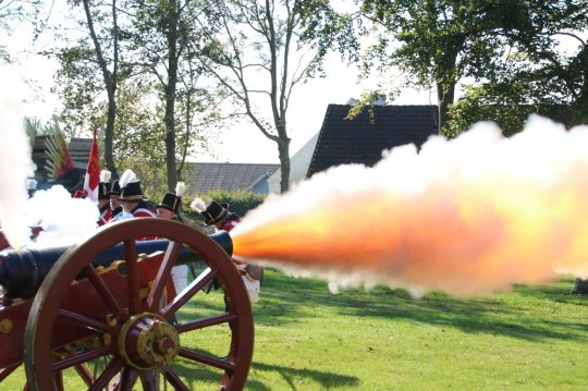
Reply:
<svg viewBox="0 0 588 391"><path fill-rule="evenodd" d="M321 73L335 39L350 37L341 34L347 19L323 0L212 0L199 20L208 35L196 58L238 108L228 117L247 118L277 144L286 192L292 91Z"/></svg>

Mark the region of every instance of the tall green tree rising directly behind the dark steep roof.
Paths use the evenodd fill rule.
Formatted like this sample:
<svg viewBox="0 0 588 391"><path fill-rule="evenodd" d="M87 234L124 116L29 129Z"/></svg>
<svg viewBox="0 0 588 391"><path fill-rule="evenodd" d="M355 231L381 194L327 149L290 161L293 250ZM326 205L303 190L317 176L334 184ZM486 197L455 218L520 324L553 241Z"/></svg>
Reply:
<svg viewBox="0 0 588 391"><path fill-rule="evenodd" d="M527 20L527 3L491 1L365 0L363 14L383 29L364 66L397 66L421 87L433 85L444 127L461 78L491 76L511 40L511 25ZM372 30L366 29L371 33Z"/></svg>

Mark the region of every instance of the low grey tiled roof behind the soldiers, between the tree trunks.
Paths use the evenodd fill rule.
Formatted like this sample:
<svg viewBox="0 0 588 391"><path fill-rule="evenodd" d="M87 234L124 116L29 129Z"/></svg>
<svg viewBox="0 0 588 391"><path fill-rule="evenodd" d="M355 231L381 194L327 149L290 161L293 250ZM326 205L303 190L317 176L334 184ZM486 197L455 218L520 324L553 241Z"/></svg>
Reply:
<svg viewBox="0 0 588 391"><path fill-rule="evenodd" d="M185 181L191 191L198 193L250 191L279 167L279 164L194 162L188 163Z"/></svg>

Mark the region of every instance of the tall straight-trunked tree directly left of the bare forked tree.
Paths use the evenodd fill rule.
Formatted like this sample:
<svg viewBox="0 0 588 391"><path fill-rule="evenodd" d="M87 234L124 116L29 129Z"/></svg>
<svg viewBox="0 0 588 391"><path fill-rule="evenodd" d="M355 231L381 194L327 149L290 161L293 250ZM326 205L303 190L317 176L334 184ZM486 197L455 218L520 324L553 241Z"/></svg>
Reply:
<svg viewBox="0 0 588 391"><path fill-rule="evenodd" d="M194 144L191 137L194 107L208 106L204 98L213 100L212 95L197 87L201 70L189 62L194 48L189 42L201 35L192 21L203 12L203 4L194 0L130 1L128 4L134 12L134 23L127 32L133 62L140 70L140 77L155 77L154 85L158 86L163 102L167 181L172 192ZM177 103L182 105L181 112ZM179 123L184 125L184 132L179 131ZM179 135L183 135L182 154L177 151Z"/></svg>

